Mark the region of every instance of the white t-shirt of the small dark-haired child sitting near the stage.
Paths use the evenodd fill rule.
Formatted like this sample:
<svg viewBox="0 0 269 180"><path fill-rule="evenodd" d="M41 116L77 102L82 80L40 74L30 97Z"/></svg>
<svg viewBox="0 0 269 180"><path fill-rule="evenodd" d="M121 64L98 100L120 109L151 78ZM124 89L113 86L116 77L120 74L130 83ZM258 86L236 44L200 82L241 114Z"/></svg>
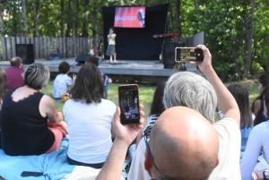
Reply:
<svg viewBox="0 0 269 180"><path fill-rule="evenodd" d="M72 84L72 78L69 77L67 74L58 74L53 82L53 98L61 98L62 94L67 92L68 86L71 86Z"/></svg>

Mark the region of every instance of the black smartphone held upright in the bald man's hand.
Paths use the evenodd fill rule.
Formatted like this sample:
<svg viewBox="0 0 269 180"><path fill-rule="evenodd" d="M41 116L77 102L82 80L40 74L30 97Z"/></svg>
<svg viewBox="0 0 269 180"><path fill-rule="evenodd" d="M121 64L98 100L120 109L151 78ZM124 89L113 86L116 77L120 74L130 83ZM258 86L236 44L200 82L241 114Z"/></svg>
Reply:
<svg viewBox="0 0 269 180"><path fill-rule="evenodd" d="M121 124L137 124L139 115L139 93L137 84L118 86L118 105Z"/></svg>

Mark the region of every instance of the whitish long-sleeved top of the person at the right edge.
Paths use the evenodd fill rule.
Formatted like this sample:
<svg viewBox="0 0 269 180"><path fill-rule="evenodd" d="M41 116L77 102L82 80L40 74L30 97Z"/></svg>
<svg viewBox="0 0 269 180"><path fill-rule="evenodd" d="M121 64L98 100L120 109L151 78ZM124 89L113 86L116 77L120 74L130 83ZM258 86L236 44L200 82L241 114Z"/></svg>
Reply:
<svg viewBox="0 0 269 180"><path fill-rule="evenodd" d="M269 121L256 125L249 134L247 148L240 162L242 179L252 179L252 171L256 166L261 150L266 162L269 162Z"/></svg>

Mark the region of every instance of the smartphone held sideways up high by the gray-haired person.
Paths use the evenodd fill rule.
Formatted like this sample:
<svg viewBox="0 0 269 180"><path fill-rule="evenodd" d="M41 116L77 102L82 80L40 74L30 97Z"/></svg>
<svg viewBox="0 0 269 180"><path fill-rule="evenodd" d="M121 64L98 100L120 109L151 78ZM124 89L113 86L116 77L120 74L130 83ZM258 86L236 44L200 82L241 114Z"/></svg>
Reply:
<svg viewBox="0 0 269 180"><path fill-rule="evenodd" d="M203 61L204 51L196 47L176 47L175 61Z"/></svg>

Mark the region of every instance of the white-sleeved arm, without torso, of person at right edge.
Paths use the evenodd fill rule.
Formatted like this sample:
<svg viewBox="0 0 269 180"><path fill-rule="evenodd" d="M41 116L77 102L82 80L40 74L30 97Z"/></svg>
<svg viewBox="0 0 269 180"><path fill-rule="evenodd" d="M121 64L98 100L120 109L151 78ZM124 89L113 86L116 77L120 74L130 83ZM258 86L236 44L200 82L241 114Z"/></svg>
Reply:
<svg viewBox="0 0 269 180"><path fill-rule="evenodd" d="M249 134L247 147L240 162L241 179L248 180L252 177L252 171L263 148L263 133L263 125L260 124L256 125Z"/></svg>

